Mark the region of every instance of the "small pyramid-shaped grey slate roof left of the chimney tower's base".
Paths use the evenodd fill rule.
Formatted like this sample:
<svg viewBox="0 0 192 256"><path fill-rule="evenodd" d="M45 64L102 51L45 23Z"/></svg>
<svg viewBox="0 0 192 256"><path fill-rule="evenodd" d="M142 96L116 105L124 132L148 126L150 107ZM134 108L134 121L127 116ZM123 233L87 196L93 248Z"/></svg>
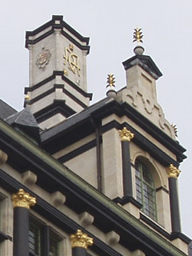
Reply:
<svg viewBox="0 0 192 256"><path fill-rule="evenodd" d="M38 122L34 118L34 115L30 112L30 107L26 106L22 111L12 114L10 117L5 118L5 121L12 125L38 127Z"/></svg>

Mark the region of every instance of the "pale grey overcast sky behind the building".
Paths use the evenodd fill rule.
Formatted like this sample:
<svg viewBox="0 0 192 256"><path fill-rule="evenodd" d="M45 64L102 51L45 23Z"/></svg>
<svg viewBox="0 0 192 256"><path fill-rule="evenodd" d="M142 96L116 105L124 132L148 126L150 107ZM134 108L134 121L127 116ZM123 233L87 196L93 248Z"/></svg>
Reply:
<svg viewBox="0 0 192 256"><path fill-rule="evenodd" d="M88 90L93 102L105 97L106 76L116 77L117 90L125 86L122 62L133 56L133 31L142 27L145 54L162 71L157 82L158 102L166 118L178 126L178 141L187 159L180 166L182 231L192 238L192 1L191 0L17 0L0 8L0 98L21 110L28 86L28 50L25 32L49 21L53 14L83 36L90 37L87 57Z"/></svg>

